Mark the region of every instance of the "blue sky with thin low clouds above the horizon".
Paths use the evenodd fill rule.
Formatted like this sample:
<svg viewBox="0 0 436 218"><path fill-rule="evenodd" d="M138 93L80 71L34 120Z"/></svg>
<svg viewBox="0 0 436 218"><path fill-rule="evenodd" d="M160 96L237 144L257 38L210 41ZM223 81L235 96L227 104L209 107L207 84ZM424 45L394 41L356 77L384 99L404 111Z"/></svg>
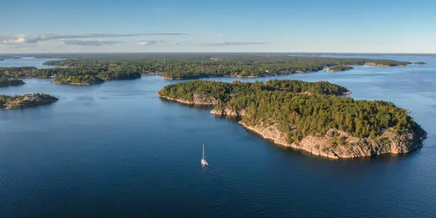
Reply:
<svg viewBox="0 0 436 218"><path fill-rule="evenodd" d="M436 53L435 0L0 0L0 53Z"/></svg>

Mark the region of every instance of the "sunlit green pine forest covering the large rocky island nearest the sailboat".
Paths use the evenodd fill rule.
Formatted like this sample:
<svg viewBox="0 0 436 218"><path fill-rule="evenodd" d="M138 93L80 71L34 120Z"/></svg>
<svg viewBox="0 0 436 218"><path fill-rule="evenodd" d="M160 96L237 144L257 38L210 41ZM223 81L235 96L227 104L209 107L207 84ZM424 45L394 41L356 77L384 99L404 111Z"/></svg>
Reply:
<svg viewBox="0 0 436 218"><path fill-rule="evenodd" d="M305 90L313 95L304 94ZM345 90L327 82L189 81L167 85L159 95L185 100L192 100L194 94L212 96L219 100L217 110L244 110L242 121L248 125L275 123L288 135L289 142L299 142L307 135L323 135L329 129L374 138L388 128L400 133L417 127L405 110L393 103L336 96Z"/></svg>

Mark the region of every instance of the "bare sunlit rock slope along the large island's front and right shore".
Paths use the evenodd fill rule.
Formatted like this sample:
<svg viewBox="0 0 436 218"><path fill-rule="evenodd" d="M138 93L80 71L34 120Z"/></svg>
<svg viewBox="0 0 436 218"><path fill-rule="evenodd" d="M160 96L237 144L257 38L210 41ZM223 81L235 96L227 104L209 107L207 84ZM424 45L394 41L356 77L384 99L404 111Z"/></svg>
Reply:
<svg viewBox="0 0 436 218"><path fill-rule="evenodd" d="M230 108L223 110L212 110L210 113L215 115L242 117L245 111L234 111ZM289 143L286 134L281 132L275 124L273 125L248 125L239 121L247 130L261 135L262 137L274 141L276 145L291 147L296 150L308 152L318 157L331 159L351 159L360 157L372 157L384 154L405 154L422 147L422 140L427 137L427 133L421 128L415 133L406 132L395 134L393 130L386 130L383 135L372 139L370 137L353 137L351 134L341 130L328 130L326 135L309 135L304 137L299 143ZM338 139L340 139L338 145Z"/></svg>

